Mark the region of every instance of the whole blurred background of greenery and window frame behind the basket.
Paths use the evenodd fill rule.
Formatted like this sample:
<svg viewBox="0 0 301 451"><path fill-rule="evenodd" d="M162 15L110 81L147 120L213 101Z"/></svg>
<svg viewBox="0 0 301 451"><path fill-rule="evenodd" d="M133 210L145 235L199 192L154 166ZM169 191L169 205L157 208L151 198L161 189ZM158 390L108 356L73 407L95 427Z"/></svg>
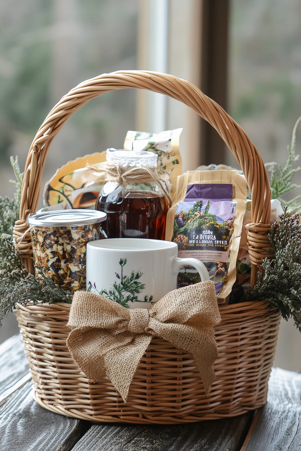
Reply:
<svg viewBox="0 0 301 451"><path fill-rule="evenodd" d="M196 84L241 125L264 162L283 166L301 115L300 44L299 0L2 0L0 194L14 192L9 156L24 167L56 102L83 80L121 69L166 72ZM127 130L179 127L183 170L212 162L238 167L215 130L188 107L126 89L71 116L51 144L42 187L69 160L123 147ZM297 154L300 147L299 128ZM10 315L0 342L17 331ZM300 333L282 321L274 364L300 371L300 349Z"/></svg>

